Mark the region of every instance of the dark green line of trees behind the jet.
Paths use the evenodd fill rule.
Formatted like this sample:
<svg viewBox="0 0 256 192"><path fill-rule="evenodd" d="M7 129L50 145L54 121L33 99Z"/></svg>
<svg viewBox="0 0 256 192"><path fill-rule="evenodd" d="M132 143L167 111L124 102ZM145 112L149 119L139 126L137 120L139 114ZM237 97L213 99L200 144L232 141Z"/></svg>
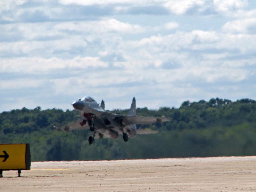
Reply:
<svg viewBox="0 0 256 192"><path fill-rule="evenodd" d="M128 114L128 110L111 112ZM256 101L251 99L212 98L185 101L180 108L138 108L137 115L165 116L171 121L138 125L159 130L158 134L138 135L128 142L122 136L95 140L91 146L89 130L56 129L79 115L75 110L40 107L2 112L0 143L30 143L32 161L256 155Z"/></svg>

